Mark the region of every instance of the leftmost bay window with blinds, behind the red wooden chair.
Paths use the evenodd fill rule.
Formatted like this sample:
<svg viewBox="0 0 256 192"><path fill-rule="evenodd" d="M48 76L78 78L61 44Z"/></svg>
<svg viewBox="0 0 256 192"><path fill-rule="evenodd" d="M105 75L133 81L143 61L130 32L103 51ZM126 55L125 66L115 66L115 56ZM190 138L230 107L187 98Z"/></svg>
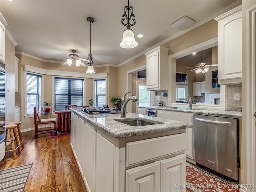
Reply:
<svg viewBox="0 0 256 192"><path fill-rule="evenodd" d="M26 92L27 92L27 114L34 114L34 107L38 113L41 113L42 98L42 76L27 73L26 75Z"/></svg>

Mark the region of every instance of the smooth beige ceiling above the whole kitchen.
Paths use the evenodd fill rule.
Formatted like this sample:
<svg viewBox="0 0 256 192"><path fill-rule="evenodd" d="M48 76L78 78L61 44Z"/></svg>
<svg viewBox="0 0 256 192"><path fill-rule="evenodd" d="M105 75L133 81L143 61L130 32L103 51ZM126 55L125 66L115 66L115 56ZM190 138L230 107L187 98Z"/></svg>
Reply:
<svg viewBox="0 0 256 192"><path fill-rule="evenodd" d="M236 0L130 0L134 8L134 30L138 46L119 46L124 6L128 0L0 0L6 28L17 42L15 51L44 60L66 58L77 50L80 58L90 54L90 23L93 17L91 53L94 65L124 64L159 42L182 32L170 24L188 16L200 25L238 4ZM190 27L192 28L192 27ZM137 38L143 34L143 38ZM56 59L64 61L65 59Z"/></svg>

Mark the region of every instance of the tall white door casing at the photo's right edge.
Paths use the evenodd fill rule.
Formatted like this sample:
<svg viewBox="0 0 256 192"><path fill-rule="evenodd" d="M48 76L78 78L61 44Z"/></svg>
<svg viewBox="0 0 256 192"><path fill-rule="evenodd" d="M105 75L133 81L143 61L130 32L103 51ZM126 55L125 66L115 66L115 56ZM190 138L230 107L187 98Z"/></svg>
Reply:
<svg viewBox="0 0 256 192"><path fill-rule="evenodd" d="M246 173L247 183L256 181L256 6L246 10ZM255 188L241 191L256 192Z"/></svg>

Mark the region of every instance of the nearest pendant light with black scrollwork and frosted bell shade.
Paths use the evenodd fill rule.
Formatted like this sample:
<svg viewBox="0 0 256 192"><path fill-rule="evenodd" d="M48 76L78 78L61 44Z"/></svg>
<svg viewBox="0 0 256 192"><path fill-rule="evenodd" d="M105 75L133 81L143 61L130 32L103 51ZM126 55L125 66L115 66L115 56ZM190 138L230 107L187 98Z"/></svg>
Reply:
<svg viewBox="0 0 256 192"><path fill-rule="evenodd" d="M126 11L127 11L127 14L126 14ZM130 14L130 11L131 11L131 14ZM120 43L120 47L126 48L126 49L134 48L138 45L138 42L136 42L134 38L133 30L130 27L134 26L136 21L134 18L132 18L134 17L133 7L129 5L129 0L128 0L128 6L124 7L124 14L122 15L122 17L126 18L126 23L124 23L125 18L121 20L121 23L124 26L126 26L126 29L124 30L123 40ZM132 24L130 24L131 18L134 21Z"/></svg>

